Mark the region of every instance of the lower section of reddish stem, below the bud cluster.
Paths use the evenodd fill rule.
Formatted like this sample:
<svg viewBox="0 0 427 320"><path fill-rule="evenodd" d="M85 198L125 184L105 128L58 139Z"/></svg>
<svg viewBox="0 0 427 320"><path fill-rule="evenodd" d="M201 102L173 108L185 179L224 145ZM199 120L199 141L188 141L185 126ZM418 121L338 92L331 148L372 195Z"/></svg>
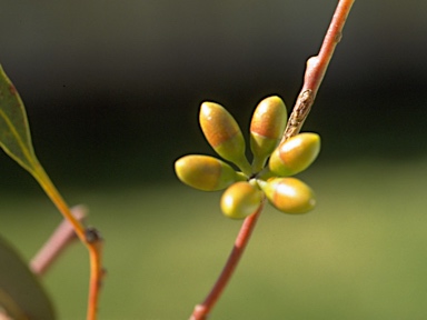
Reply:
<svg viewBox="0 0 427 320"><path fill-rule="evenodd" d="M206 297L205 301L196 306L190 320L205 320L209 316L210 310L217 302L219 296L222 293L234 271L237 268L237 264L245 251L245 248L249 242L250 234L252 233L258 217L262 211L266 199L262 199L262 202L257 209L257 211L245 219L221 274L217 279L217 282L215 283L208 297Z"/></svg>

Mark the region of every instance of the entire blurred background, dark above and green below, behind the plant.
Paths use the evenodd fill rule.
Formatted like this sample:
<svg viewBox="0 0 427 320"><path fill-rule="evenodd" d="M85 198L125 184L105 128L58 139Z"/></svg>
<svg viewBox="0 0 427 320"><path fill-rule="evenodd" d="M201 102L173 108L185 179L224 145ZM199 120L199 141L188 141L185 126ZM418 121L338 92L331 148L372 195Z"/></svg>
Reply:
<svg viewBox="0 0 427 320"><path fill-rule="evenodd" d="M240 222L173 161L209 153L203 100L247 131L255 106L291 108L337 1L2 1L0 63L27 106L39 159L106 238L100 319L187 319ZM268 208L212 319L426 319L425 1L356 1L304 130L322 137L301 179L318 208ZM60 217L0 153L0 232L30 259ZM83 319L75 244L43 282Z"/></svg>

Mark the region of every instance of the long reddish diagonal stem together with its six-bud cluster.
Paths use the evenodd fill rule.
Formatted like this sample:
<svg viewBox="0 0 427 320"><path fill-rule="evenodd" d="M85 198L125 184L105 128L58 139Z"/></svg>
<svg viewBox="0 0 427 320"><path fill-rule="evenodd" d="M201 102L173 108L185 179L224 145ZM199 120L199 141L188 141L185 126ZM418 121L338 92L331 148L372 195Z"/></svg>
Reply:
<svg viewBox="0 0 427 320"><path fill-rule="evenodd" d="M320 151L318 134L299 132L315 102L335 48L341 40L354 2L338 2L319 53L307 60L304 84L287 122L285 104L277 96L262 100L256 108L250 126L251 166L245 158L245 141L232 117L217 103L201 104L199 122L207 141L220 157L239 170L232 173L232 168L219 159L217 170L211 170L207 158L197 158L197 163L188 161L206 156L186 156L177 160L176 173L182 182L196 189L220 190L230 184L220 200L222 213L235 219L245 218L245 221L222 272L206 299L195 307L190 320L209 317L236 270L266 199L287 213L305 213L314 209L314 191L289 176L307 169ZM215 181L215 188L207 188L207 181Z"/></svg>

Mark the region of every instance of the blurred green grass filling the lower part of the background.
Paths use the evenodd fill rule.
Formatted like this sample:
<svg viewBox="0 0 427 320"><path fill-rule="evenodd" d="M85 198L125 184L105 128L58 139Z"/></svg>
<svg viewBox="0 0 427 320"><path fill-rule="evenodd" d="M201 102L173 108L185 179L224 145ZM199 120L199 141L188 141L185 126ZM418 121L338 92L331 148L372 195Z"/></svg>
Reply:
<svg viewBox="0 0 427 320"><path fill-rule="evenodd" d="M314 164L317 209L267 207L212 319L425 319L427 159ZM30 192L31 193L31 192ZM67 189L106 238L100 319L187 319L205 298L240 222L219 192L179 182ZM32 193L31 193L32 194ZM0 203L3 236L31 257L59 222L37 191ZM88 258L73 244L46 276L60 319L83 319Z"/></svg>

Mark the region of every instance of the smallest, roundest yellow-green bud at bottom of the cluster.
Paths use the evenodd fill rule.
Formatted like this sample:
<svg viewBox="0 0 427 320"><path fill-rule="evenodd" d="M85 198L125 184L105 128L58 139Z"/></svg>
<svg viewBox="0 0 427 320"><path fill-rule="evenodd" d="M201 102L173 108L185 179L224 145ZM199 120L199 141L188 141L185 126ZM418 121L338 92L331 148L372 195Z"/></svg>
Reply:
<svg viewBox="0 0 427 320"><path fill-rule="evenodd" d="M222 213L232 219L245 219L261 206L262 191L247 181L232 183L220 201Z"/></svg>

